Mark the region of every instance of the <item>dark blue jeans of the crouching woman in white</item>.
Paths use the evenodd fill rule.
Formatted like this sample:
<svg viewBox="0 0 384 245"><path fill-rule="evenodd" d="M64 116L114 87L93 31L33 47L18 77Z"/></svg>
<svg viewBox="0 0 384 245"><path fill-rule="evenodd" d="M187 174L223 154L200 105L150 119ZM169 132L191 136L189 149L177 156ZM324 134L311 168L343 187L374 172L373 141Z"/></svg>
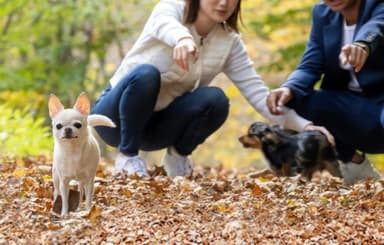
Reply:
<svg viewBox="0 0 384 245"><path fill-rule="evenodd" d="M126 155L169 146L189 155L225 122L229 101L217 87L202 87L177 97L154 111L160 90L160 73L140 65L100 95L92 114L111 118L116 128L96 127L100 137Z"/></svg>

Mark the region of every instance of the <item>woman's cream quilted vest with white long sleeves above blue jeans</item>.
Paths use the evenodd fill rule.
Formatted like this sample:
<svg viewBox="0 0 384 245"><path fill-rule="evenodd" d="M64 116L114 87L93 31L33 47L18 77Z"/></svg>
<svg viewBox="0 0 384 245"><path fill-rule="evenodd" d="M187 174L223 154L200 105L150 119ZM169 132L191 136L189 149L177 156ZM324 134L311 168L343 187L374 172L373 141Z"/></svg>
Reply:
<svg viewBox="0 0 384 245"><path fill-rule="evenodd" d="M139 64L152 64L161 73L161 89L155 110L164 109L174 98L198 86L208 86L223 72L239 88L256 111L284 128L301 131L310 123L293 110L273 116L266 106L269 89L256 73L241 36L225 24L215 27L205 38L193 25L182 24L184 1L161 0L154 8L143 32L124 57L110 80L114 87ZM192 37L199 45L199 58L189 62L189 72L173 62L173 47L182 37Z"/></svg>

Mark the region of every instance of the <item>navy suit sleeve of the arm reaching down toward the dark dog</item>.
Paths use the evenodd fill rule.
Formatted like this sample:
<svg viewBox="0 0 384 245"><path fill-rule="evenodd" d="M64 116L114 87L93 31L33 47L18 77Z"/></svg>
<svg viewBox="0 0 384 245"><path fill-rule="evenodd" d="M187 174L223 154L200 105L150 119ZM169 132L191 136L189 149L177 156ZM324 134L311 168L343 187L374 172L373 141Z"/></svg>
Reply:
<svg viewBox="0 0 384 245"><path fill-rule="evenodd" d="M324 45L320 7L316 5L312 11L312 27L307 46L300 64L291 73L283 87L288 87L294 94L294 99L299 100L313 90L324 70Z"/></svg>

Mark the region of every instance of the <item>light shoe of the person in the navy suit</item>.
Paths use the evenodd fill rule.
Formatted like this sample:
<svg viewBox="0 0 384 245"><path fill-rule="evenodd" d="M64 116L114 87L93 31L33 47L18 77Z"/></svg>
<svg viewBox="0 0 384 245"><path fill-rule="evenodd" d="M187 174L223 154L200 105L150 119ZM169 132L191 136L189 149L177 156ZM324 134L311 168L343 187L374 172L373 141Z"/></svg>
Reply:
<svg viewBox="0 0 384 245"><path fill-rule="evenodd" d="M381 178L380 174L367 158L365 158L362 163L341 163L340 171L344 178L344 182L348 185L352 185L356 181L367 177L371 177L373 180L379 180Z"/></svg>

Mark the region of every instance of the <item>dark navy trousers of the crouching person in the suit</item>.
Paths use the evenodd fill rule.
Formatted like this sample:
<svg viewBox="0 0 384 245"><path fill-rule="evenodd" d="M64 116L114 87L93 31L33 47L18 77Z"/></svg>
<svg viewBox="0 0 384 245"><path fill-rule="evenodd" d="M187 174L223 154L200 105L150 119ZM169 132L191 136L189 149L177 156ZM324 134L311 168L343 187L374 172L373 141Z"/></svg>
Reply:
<svg viewBox="0 0 384 245"><path fill-rule="evenodd" d="M340 160L348 162L356 150L384 152L383 104L381 97L321 89L296 98L290 106L304 118L325 126L336 139Z"/></svg>

